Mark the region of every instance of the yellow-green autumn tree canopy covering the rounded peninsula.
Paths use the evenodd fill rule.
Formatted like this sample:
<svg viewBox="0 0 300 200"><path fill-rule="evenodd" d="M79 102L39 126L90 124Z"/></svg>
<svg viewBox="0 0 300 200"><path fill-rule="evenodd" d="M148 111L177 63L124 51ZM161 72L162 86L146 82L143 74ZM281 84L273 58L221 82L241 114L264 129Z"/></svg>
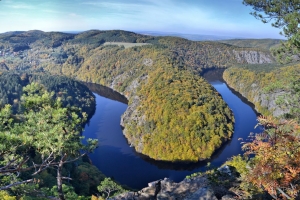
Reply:
<svg viewBox="0 0 300 200"><path fill-rule="evenodd" d="M142 153L156 160L195 162L230 139L233 115L203 78L171 67L158 68L149 77L137 108L145 123L131 123L126 131L134 146L143 146Z"/></svg>

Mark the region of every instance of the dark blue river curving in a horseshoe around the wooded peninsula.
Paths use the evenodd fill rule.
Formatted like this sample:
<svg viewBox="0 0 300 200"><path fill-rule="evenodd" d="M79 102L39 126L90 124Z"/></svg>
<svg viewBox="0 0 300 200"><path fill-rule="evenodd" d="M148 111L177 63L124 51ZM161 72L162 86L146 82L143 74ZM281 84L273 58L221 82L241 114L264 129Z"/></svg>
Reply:
<svg viewBox="0 0 300 200"><path fill-rule="evenodd" d="M204 171L207 162L218 167L233 155L242 154L241 141L238 139L246 140L250 132L260 131L254 129L257 114L245 99L228 88L220 75L208 73L207 80L222 95L235 117L232 139L224 144L211 160L194 164L176 164L157 162L136 153L134 148L128 145L120 126L120 117L127 108L126 98L109 88L89 84L89 88L96 96L97 106L83 135L86 138L97 138L100 142L100 146L90 154L93 164L106 176L113 177L119 183L142 189L147 183L164 177L179 182L187 175Z"/></svg>

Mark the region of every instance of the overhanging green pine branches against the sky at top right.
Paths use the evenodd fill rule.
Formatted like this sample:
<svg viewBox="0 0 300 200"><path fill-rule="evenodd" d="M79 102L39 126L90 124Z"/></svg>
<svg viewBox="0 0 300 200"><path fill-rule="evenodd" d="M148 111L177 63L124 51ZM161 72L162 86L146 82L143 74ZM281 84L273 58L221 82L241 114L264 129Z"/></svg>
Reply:
<svg viewBox="0 0 300 200"><path fill-rule="evenodd" d="M244 0L243 4L252 6L254 12L251 14L263 23L272 21L272 26L282 28L280 33L288 38L288 42L273 51L280 61L285 56L285 60L290 62L291 55L299 55L300 0Z"/></svg>

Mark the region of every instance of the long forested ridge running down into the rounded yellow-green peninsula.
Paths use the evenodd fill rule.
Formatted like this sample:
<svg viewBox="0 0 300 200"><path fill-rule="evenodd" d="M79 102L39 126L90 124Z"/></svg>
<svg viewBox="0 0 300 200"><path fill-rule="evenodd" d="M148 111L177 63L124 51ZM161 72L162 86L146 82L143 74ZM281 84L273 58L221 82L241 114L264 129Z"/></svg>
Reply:
<svg viewBox="0 0 300 200"><path fill-rule="evenodd" d="M10 32L0 51L3 70L64 74L124 94L128 142L153 159L188 162L210 158L233 132L233 115L202 70L274 62L268 50L119 30Z"/></svg>

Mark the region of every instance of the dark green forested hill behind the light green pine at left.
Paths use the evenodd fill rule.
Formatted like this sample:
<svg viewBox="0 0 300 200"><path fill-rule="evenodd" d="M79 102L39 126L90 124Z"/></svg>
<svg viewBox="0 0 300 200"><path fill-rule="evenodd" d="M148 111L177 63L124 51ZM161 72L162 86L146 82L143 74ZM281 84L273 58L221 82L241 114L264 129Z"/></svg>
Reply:
<svg viewBox="0 0 300 200"><path fill-rule="evenodd" d="M38 82L49 92L54 92L54 98L59 97L64 106L76 106L91 117L95 111L95 97L83 84L65 76L53 76L48 73L17 73L4 72L0 74L0 106L11 104L15 112L21 109L23 87Z"/></svg>

